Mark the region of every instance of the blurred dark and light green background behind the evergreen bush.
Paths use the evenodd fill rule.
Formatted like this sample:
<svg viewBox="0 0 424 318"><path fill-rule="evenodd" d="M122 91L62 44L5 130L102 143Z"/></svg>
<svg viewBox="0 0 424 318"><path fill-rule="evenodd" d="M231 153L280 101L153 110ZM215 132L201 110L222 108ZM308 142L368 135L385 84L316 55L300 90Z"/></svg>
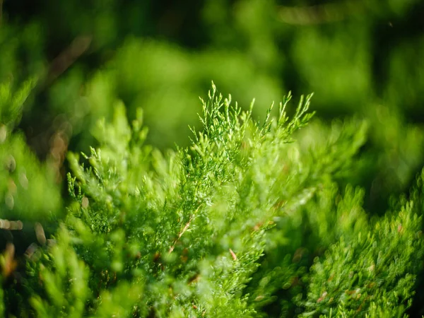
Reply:
<svg viewBox="0 0 424 318"><path fill-rule="evenodd" d="M373 213L424 165L423 1L0 4L0 81L17 88L37 78L18 129L59 180L66 151L95 145L90 127L117 100L130 118L143 108L154 146L186 146L211 81L242 107L256 98L257 118L291 90L314 92L324 124L367 120L351 182L365 188Z"/></svg>

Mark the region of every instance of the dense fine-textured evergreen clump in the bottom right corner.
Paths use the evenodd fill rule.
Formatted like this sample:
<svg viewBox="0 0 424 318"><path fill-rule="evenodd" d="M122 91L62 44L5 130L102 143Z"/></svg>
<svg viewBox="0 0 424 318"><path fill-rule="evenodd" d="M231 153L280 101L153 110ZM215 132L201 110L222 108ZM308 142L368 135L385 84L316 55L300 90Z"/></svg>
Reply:
<svg viewBox="0 0 424 318"><path fill-rule="evenodd" d="M404 317L423 256L420 212L404 200L401 211L389 212L370 230L357 230L348 243L342 238L315 259L304 316L332 309L346 317Z"/></svg>

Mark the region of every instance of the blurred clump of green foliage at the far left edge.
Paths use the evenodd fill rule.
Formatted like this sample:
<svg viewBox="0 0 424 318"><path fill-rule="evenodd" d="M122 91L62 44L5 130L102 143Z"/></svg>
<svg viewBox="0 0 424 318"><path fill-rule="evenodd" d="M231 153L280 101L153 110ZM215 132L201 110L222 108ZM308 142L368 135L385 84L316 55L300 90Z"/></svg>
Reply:
<svg viewBox="0 0 424 318"><path fill-rule="evenodd" d="M1 218L47 220L61 209L54 172L37 162L23 134L13 133L33 86L27 81L14 91L10 81L0 85Z"/></svg>

